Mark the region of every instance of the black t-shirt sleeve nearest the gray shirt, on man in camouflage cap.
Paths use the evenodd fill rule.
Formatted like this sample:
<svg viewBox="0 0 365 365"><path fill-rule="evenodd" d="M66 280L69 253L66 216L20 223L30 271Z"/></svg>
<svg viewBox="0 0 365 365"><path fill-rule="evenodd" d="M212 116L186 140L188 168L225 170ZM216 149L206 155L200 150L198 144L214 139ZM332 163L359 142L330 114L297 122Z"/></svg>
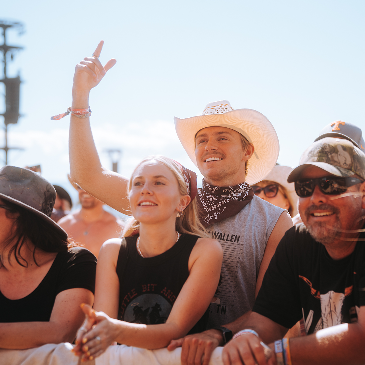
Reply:
<svg viewBox="0 0 365 365"><path fill-rule="evenodd" d="M291 328L302 317L298 290L296 230L290 228L281 239L266 270L253 311Z"/></svg>

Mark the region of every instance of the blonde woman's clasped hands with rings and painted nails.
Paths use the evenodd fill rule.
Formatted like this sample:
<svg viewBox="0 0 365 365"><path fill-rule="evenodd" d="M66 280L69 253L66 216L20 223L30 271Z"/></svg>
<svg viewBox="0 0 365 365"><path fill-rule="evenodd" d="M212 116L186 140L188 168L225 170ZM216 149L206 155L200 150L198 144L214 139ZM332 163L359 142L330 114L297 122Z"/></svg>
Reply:
<svg viewBox="0 0 365 365"><path fill-rule="evenodd" d="M76 346L72 352L85 362L100 356L114 342L117 330L115 320L104 312L96 312L85 303L81 304L81 309L86 319L77 331Z"/></svg>

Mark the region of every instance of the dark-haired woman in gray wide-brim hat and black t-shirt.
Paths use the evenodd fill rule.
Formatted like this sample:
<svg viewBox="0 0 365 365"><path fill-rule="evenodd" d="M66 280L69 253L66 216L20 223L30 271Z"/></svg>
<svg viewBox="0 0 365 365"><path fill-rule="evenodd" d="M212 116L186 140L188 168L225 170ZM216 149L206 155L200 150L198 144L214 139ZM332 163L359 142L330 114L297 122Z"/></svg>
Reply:
<svg viewBox="0 0 365 365"><path fill-rule="evenodd" d="M0 170L0 348L73 342L93 303L96 258L50 218L55 197L31 170Z"/></svg>

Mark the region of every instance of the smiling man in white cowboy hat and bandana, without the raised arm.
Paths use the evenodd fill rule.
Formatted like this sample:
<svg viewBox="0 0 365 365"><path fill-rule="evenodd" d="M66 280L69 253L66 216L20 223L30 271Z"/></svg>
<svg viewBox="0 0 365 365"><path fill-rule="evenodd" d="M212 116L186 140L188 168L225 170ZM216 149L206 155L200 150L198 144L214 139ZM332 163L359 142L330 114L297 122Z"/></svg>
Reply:
<svg viewBox="0 0 365 365"><path fill-rule="evenodd" d="M203 114L175 118L177 135L204 176L198 189L200 221L223 247L222 282L209 308L210 330L172 341L183 346L183 364L224 345L249 315L270 259L285 231L288 212L257 196L249 184L264 180L276 164L279 142L260 112L209 103Z"/></svg>

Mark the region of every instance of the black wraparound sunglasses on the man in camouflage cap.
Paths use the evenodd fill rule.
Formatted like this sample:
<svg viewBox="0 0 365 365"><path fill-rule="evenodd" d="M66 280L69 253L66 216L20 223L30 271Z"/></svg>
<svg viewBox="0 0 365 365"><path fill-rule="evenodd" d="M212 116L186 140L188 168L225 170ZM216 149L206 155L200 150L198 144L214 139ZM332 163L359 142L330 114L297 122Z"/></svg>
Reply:
<svg viewBox="0 0 365 365"><path fill-rule="evenodd" d="M350 186L362 183L355 177L325 176L318 179L300 179L295 181L295 192L301 198L311 196L316 185L326 195L338 195L344 193Z"/></svg>

